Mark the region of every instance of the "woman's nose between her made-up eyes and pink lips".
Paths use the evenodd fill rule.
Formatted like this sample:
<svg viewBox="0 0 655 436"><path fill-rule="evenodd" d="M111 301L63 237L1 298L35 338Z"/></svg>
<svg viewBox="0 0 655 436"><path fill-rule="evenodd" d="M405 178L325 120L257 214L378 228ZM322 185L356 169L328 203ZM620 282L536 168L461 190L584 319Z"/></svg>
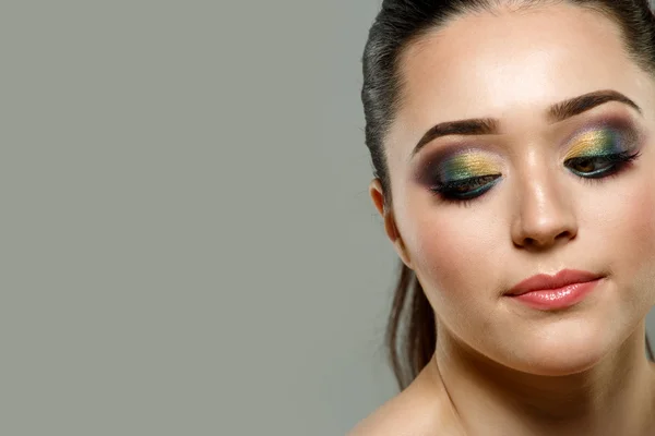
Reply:
<svg viewBox="0 0 655 436"><path fill-rule="evenodd" d="M544 170L526 174L519 183L516 215L512 222L515 246L544 250L575 238L577 220L570 190L561 180Z"/></svg>

